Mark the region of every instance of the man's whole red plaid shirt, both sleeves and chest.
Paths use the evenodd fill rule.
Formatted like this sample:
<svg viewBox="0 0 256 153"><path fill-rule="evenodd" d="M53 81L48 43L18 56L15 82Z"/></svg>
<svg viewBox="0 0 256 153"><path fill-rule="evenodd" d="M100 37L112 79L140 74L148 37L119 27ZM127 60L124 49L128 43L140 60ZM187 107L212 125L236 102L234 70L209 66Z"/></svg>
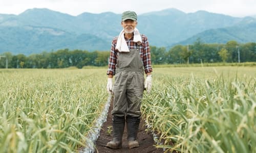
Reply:
<svg viewBox="0 0 256 153"><path fill-rule="evenodd" d="M110 58L109 58L109 69L106 72L106 74L112 74L115 75L116 73L116 62L118 59L119 52L116 50L116 42L117 37L114 37L112 40L111 45L111 52L110 52ZM140 59L143 62L144 65L144 71L152 72L152 66L151 66L151 55L150 55L150 45L148 44L147 37L145 35L141 35L141 45L139 47L140 51ZM131 39L125 38L128 48L135 49L136 48L136 42L133 41L133 37Z"/></svg>

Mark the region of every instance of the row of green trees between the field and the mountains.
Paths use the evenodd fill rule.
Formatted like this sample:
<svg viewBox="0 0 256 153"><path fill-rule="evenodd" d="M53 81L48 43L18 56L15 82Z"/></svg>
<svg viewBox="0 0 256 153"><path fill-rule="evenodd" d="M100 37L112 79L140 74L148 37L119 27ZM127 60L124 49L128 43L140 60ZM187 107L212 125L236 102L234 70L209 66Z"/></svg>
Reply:
<svg viewBox="0 0 256 153"><path fill-rule="evenodd" d="M215 62L255 62L256 43L239 44L228 41L226 44L207 44L200 38L193 44L166 47L150 46L152 64L189 64ZM56 52L42 52L25 56L12 55L10 52L1 54L0 68L66 68L75 66L106 66L110 51L69 50L60 49Z"/></svg>

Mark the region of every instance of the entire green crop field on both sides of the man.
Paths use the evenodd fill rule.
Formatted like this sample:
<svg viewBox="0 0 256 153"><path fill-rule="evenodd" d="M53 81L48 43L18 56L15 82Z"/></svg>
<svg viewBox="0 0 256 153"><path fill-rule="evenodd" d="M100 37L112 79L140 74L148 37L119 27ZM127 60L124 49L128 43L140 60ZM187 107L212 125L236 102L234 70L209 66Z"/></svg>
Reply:
<svg viewBox="0 0 256 153"><path fill-rule="evenodd" d="M256 151L256 67L153 70L141 110L158 147ZM0 69L0 152L77 152L109 97L105 86L106 68Z"/></svg>

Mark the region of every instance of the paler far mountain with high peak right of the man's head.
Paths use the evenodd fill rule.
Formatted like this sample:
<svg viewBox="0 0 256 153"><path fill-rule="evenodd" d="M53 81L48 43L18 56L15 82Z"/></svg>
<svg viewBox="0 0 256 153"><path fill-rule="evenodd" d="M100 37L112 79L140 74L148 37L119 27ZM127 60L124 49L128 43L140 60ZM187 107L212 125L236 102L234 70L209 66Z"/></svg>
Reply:
<svg viewBox="0 0 256 153"><path fill-rule="evenodd" d="M206 11L186 14L177 9L167 9L161 12L142 14L138 27L141 26L140 29L153 40L153 45L165 46L185 40L205 30L229 27L240 21L242 18Z"/></svg>

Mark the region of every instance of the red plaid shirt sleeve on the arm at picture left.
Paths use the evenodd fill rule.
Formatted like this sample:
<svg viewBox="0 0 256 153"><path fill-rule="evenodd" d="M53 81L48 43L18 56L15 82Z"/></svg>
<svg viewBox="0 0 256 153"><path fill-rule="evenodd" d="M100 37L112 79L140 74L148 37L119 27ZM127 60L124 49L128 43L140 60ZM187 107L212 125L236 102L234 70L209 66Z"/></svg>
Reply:
<svg viewBox="0 0 256 153"><path fill-rule="evenodd" d="M110 58L109 58L109 68L108 68L108 71L106 72L107 75L109 74L115 75L116 73L116 61L117 61L116 42L117 42L117 37L113 38L112 40Z"/></svg>

